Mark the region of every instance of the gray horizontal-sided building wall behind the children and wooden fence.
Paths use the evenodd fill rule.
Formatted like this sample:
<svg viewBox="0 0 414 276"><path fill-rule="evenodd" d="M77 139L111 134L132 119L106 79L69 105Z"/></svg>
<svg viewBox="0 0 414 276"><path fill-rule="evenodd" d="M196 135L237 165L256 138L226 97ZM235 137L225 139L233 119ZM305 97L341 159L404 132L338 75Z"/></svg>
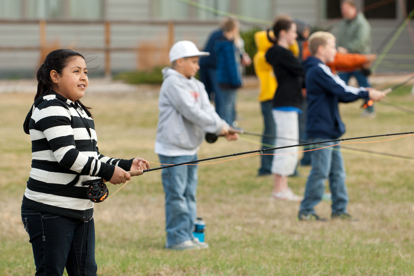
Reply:
<svg viewBox="0 0 414 276"><path fill-rule="evenodd" d="M66 0L69 1L69 0ZM103 17L109 21L154 21L154 3L161 5L164 0L104 0L106 9ZM207 1L207 0L205 0ZM209 0L213 1L213 0ZM265 1L265 0L260 0ZM266 0L267 1L267 0ZM206 2L207 3L207 2ZM224 5L220 2L220 5ZM230 2L229 2L230 3ZM234 1L231 2L234 4ZM232 5L233 5L232 4ZM294 19L302 19L313 25L335 26L338 20L323 19L323 2L320 0L273 0L271 5L274 15L289 14ZM231 6L232 9L236 9ZM193 22L188 24L175 24L173 41L191 40L199 48L203 48L210 32L217 28L219 17L211 16L205 23L197 23L194 17L197 13L188 9L189 16ZM267 14L267 13L266 13ZM159 15L157 15L159 16ZM205 14L202 15L205 18ZM268 20L269 15L264 17ZM397 19L370 20L372 26L373 50L384 41L392 29L401 23L402 14L398 12ZM102 18L103 19L103 18ZM159 19L159 17L157 17ZM181 21L188 20L182 18ZM215 21L214 21L215 20ZM251 24L242 24L242 29L248 29ZM27 47L40 46L39 24L32 23L1 23L0 19L0 47ZM82 23L82 24L59 24L53 23L46 26L46 41L50 46L75 48L84 53L87 59L93 59L88 66L98 67L96 73L104 70L104 53L98 50L88 50L87 48L103 48L105 40L105 29L102 24ZM390 53L409 55L413 54L414 46L410 39L407 29L405 29ZM168 63L168 26L166 21L159 23L136 22L135 24L113 23L111 25L111 46L115 48L138 48L132 51L113 51L111 53L111 69L113 72L123 70L146 69L154 64ZM383 50L382 48L379 49ZM14 76L24 72L26 75L33 75L39 65L41 55L36 50L1 50L0 51L0 77ZM385 60L377 72L401 72L413 70L410 67L411 61L404 60Z"/></svg>

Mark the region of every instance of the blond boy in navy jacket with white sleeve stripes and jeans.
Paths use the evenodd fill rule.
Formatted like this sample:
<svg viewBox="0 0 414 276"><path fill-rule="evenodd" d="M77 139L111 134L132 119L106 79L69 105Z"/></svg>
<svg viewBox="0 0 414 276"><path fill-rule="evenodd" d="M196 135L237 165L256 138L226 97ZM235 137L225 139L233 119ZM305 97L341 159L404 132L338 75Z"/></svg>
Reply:
<svg viewBox="0 0 414 276"><path fill-rule="evenodd" d="M332 34L323 31L312 34L309 37L309 50L313 56L303 63L308 101L306 133L312 141L338 139L345 132L345 125L339 116L339 102L349 103L359 98L380 101L387 91L347 86L337 75L332 74L325 65L332 62L337 53ZM318 144L315 148L333 144L337 142ZM340 147L336 145L333 148L311 151L312 170L306 182L298 220L324 220L315 214L313 207L322 199L325 179L329 180L332 193L331 218L354 220L347 213L346 173Z"/></svg>

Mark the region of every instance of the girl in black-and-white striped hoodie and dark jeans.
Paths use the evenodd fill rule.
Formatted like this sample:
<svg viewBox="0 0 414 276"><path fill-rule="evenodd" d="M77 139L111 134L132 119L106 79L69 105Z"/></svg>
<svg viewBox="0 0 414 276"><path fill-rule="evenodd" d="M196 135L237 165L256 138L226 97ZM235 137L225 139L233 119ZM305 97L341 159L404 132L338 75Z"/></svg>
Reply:
<svg viewBox="0 0 414 276"><path fill-rule="evenodd" d="M94 203L82 182L125 183L128 170L149 168L143 158L99 153L94 120L79 99L88 86L84 57L54 50L37 72L37 93L24 122L32 163L22 221L32 244L36 275L96 275Z"/></svg>

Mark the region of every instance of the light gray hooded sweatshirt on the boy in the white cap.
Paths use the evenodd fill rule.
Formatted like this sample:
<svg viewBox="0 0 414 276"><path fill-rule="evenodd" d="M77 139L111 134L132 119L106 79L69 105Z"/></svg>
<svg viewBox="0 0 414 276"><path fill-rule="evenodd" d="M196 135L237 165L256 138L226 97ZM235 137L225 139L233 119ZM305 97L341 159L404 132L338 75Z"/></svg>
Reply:
<svg viewBox="0 0 414 276"><path fill-rule="evenodd" d="M220 134L227 124L217 115L202 82L171 67L164 68L162 74L155 153L194 155L206 132Z"/></svg>

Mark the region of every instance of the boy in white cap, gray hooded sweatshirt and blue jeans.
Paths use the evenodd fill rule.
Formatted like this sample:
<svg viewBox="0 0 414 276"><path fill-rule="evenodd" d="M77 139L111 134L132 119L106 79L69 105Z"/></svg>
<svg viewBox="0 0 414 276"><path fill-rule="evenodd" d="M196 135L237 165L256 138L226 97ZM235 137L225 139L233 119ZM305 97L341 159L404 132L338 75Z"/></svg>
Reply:
<svg viewBox="0 0 414 276"><path fill-rule="evenodd" d="M178 41L170 50L172 67L162 70L155 153L160 163L176 164L197 160L205 133L237 139L229 125L217 115L204 84L195 79L200 69L200 52L191 41ZM165 192L166 248L173 250L208 248L193 235L197 216L197 164L166 168L161 173Z"/></svg>

